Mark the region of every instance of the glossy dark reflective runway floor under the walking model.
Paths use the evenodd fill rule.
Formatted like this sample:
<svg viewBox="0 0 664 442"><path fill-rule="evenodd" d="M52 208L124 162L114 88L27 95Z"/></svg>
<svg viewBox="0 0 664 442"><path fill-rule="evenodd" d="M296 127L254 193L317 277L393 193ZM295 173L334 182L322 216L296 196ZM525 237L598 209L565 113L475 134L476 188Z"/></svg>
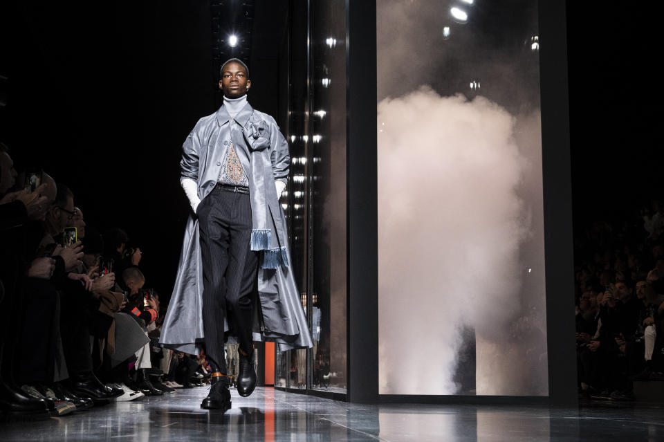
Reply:
<svg viewBox="0 0 664 442"><path fill-rule="evenodd" d="M0 441L664 441L664 407L351 405L266 388L249 398L232 391L221 414L199 407L207 392L1 423Z"/></svg>

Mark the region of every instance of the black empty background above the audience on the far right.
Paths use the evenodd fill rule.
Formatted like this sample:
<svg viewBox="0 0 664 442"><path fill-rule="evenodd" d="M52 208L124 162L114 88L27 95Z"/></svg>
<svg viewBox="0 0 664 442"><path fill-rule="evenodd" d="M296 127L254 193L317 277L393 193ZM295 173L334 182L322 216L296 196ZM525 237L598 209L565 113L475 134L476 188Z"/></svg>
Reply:
<svg viewBox="0 0 664 442"><path fill-rule="evenodd" d="M575 227L661 198L659 17L567 1Z"/></svg>

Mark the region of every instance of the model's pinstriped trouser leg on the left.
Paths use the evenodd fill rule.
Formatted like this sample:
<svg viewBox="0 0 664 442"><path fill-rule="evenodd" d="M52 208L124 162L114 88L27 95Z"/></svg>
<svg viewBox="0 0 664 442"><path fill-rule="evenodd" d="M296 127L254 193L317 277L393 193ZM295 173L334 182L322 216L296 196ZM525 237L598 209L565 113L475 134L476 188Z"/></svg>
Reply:
<svg viewBox="0 0 664 442"><path fill-rule="evenodd" d="M203 332L205 353L213 371L226 374L223 354L223 323L225 317L225 273L228 266L230 234L226 221L230 192L215 187L201 201L197 210L201 258L203 261Z"/></svg>

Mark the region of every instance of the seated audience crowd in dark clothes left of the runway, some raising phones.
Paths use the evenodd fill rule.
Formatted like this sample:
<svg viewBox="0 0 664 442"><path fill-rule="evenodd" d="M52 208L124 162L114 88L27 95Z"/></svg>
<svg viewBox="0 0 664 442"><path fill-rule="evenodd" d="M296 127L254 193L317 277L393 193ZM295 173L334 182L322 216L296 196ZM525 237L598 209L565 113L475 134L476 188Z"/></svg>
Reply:
<svg viewBox="0 0 664 442"><path fill-rule="evenodd" d="M66 228L76 228L77 241L64 241ZM106 239L67 185L34 169L19 174L0 143L0 413L64 416L173 392L183 387L176 376L187 387L201 383L203 360L150 344L117 347L126 345L115 341L118 315L155 339L165 306L143 288L142 253L127 233L113 228Z"/></svg>

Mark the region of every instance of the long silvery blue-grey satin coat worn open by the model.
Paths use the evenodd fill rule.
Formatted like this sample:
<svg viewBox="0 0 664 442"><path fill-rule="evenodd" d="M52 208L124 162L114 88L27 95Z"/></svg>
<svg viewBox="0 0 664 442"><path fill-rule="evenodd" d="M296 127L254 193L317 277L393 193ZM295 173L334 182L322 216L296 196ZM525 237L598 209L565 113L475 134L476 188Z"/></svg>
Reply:
<svg viewBox="0 0 664 442"><path fill-rule="evenodd" d="M181 177L192 178L198 183L199 198L203 201L214 188L221 172L224 149L220 143L232 140L236 149L242 149L243 154L238 152L238 156L252 184L252 212L259 205L259 210L266 210L271 215L268 217L268 223L272 223L269 227L274 232L285 234L286 220L277 199L274 181L286 181L288 176L291 162L288 143L274 118L255 111L249 104L239 111L234 120L222 106L216 113L196 123L183 144ZM247 133L250 134L252 130L258 133L253 129L258 126L261 138L248 137ZM269 181L261 176L264 171L258 165L263 163L272 165L273 179ZM270 174L270 171L266 174ZM286 246L286 256L290 263L287 238L283 245ZM259 267L258 300L254 301L254 340L277 342L282 351L313 347L290 267ZM202 308L203 265L199 224L190 214L173 294L160 333L160 344L185 353L199 354L204 338ZM228 331L228 321L225 321L224 328ZM232 342L233 338L230 340Z"/></svg>

